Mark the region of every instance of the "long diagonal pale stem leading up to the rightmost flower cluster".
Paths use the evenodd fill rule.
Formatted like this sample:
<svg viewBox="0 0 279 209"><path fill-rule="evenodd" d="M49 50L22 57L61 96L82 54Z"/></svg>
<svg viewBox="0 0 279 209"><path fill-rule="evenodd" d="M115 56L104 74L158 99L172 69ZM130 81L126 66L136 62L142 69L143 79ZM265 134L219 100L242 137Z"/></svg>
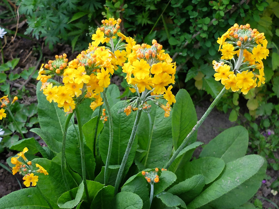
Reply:
<svg viewBox="0 0 279 209"><path fill-rule="evenodd" d="M203 121L206 119L206 117L209 115L213 107L219 102L220 98L224 95L226 92L226 88L224 87L220 93L217 95L217 97L214 99L214 101L211 103L211 105L208 107L206 112L202 115L201 119L197 122L197 124L194 126L194 128L191 130L191 132L187 135L187 137L183 140L181 145L177 148L175 153L172 155L170 160L166 163L164 168L169 168L171 163L175 160L176 156L179 154L179 152L184 148L184 146L189 142L190 138L193 136L193 134L197 131L197 129L201 126Z"/></svg>

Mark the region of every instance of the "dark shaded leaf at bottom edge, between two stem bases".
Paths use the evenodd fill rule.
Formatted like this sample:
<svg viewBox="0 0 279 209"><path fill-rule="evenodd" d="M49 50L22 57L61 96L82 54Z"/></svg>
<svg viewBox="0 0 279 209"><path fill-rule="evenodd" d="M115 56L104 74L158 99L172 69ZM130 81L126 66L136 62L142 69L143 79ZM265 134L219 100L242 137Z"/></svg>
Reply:
<svg viewBox="0 0 279 209"><path fill-rule="evenodd" d="M91 209L107 209L111 207L114 198L114 187L104 186L91 203Z"/></svg>

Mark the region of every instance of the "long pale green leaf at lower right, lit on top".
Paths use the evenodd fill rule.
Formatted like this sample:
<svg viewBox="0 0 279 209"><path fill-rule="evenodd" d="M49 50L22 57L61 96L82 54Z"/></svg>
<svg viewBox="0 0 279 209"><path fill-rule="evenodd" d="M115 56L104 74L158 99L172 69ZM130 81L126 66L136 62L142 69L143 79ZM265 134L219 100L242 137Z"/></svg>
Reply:
<svg viewBox="0 0 279 209"><path fill-rule="evenodd" d="M216 200L217 198L220 198L220 201L218 202L221 201L223 202L223 197L225 197L224 196L225 194L229 193L233 189L236 189L238 186L245 183L252 176L257 174L261 168L264 170L265 169L264 167L265 167L265 160L263 159L263 157L259 155L247 155L227 163L224 172L218 178L218 180L213 182L197 198L195 198L192 202L190 202L188 208L199 208L201 206L206 205L209 202ZM259 183L257 184L257 186L258 185ZM246 186L247 185L244 185L245 188ZM241 189L243 189L243 187ZM247 189L250 188L247 187ZM243 200L243 198L240 196L245 194L243 194L240 191L240 189L236 189L234 191L234 195L237 194L238 192L240 193L237 196L232 196L232 195L229 196L232 199L228 204L230 204L231 202L234 202L234 204L238 204L238 205L244 203L244 202L239 202L238 198L241 198L241 200ZM228 200L228 198L225 199ZM226 202L224 202L224 204L226 204ZM231 208L231 207L233 206L227 205L227 207L221 207L221 208Z"/></svg>

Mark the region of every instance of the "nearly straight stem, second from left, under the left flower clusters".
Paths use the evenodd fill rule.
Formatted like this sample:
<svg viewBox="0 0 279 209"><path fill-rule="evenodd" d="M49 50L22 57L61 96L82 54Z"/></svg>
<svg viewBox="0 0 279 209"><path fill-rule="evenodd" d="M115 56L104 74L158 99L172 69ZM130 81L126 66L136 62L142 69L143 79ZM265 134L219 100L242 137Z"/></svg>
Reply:
<svg viewBox="0 0 279 209"><path fill-rule="evenodd" d="M89 201L89 193L88 193L88 188L87 188L87 182L86 182L86 168L85 168L85 154L84 154L84 145L83 145L83 135L82 135L82 124L81 124L81 119L80 119L80 113L78 110L78 107L75 108L75 114L78 120L78 133L79 133L79 145L80 145L80 154L81 154L81 163L82 163L82 181L84 185L84 190L86 194L86 198Z"/></svg>

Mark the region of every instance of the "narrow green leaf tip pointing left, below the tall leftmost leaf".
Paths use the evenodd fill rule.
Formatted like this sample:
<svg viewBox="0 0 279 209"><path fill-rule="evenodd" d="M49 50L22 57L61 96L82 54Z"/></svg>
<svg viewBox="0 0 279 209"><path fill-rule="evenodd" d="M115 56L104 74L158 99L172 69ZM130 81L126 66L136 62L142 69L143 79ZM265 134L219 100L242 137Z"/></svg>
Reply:
<svg viewBox="0 0 279 209"><path fill-rule="evenodd" d="M53 152L61 152L62 142L55 140L47 131L44 131L42 128L32 128L30 131L37 133Z"/></svg>

